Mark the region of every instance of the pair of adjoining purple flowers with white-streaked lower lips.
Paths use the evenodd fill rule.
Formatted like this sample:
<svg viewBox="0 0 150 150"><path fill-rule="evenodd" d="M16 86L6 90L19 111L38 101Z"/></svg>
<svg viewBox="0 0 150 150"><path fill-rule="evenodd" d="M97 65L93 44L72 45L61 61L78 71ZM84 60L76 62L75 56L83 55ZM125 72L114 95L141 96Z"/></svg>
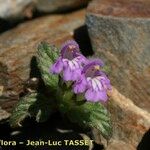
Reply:
<svg viewBox="0 0 150 150"><path fill-rule="evenodd" d="M103 66L100 59L85 58L80 53L79 45L70 40L62 45L61 55L51 66L51 72L63 75L64 81L72 81L74 93L83 93L87 101L106 102L111 85L106 74L101 71Z"/></svg>

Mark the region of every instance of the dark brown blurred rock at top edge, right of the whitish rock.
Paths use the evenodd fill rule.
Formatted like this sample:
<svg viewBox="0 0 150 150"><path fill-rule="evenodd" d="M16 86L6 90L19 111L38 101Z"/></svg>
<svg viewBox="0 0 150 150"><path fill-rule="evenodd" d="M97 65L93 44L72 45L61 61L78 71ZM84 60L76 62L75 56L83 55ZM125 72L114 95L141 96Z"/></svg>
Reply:
<svg viewBox="0 0 150 150"><path fill-rule="evenodd" d="M63 12L84 6L89 0L37 0L36 8L40 12Z"/></svg>

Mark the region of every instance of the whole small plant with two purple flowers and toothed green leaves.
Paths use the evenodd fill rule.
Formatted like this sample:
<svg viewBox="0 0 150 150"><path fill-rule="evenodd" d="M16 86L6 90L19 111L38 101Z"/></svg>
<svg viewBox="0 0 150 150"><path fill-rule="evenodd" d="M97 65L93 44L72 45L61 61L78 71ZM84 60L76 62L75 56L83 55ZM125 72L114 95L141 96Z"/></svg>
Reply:
<svg viewBox="0 0 150 150"><path fill-rule="evenodd" d="M28 116L44 122L59 111L71 122L96 128L109 138L112 128L105 103L111 85L102 60L86 58L79 45L69 40L60 49L41 43L37 63L45 88L21 98L12 112L11 126L21 126Z"/></svg>

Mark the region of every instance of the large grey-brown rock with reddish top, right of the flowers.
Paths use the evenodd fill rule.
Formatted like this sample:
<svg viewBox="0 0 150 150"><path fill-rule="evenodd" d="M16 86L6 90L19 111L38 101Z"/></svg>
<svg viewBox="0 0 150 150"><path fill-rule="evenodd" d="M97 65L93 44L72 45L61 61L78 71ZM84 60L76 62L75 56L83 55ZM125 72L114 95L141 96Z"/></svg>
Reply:
<svg viewBox="0 0 150 150"><path fill-rule="evenodd" d="M95 0L86 24L95 55L110 65L112 84L150 112L150 3Z"/></svg>

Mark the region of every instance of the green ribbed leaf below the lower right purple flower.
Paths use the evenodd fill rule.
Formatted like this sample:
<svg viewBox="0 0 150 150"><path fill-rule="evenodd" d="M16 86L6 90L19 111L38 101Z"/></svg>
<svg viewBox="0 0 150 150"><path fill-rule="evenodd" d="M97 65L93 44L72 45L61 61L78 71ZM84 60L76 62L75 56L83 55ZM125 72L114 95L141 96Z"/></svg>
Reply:
<svg viewBox="0 0 150 150"><path fill-rule="evenodd" d="M72 122L82 127L97 128L105 138L111 137L110 116L102 104L86 102L79 106L72 106L67 115Z"/></svg>

